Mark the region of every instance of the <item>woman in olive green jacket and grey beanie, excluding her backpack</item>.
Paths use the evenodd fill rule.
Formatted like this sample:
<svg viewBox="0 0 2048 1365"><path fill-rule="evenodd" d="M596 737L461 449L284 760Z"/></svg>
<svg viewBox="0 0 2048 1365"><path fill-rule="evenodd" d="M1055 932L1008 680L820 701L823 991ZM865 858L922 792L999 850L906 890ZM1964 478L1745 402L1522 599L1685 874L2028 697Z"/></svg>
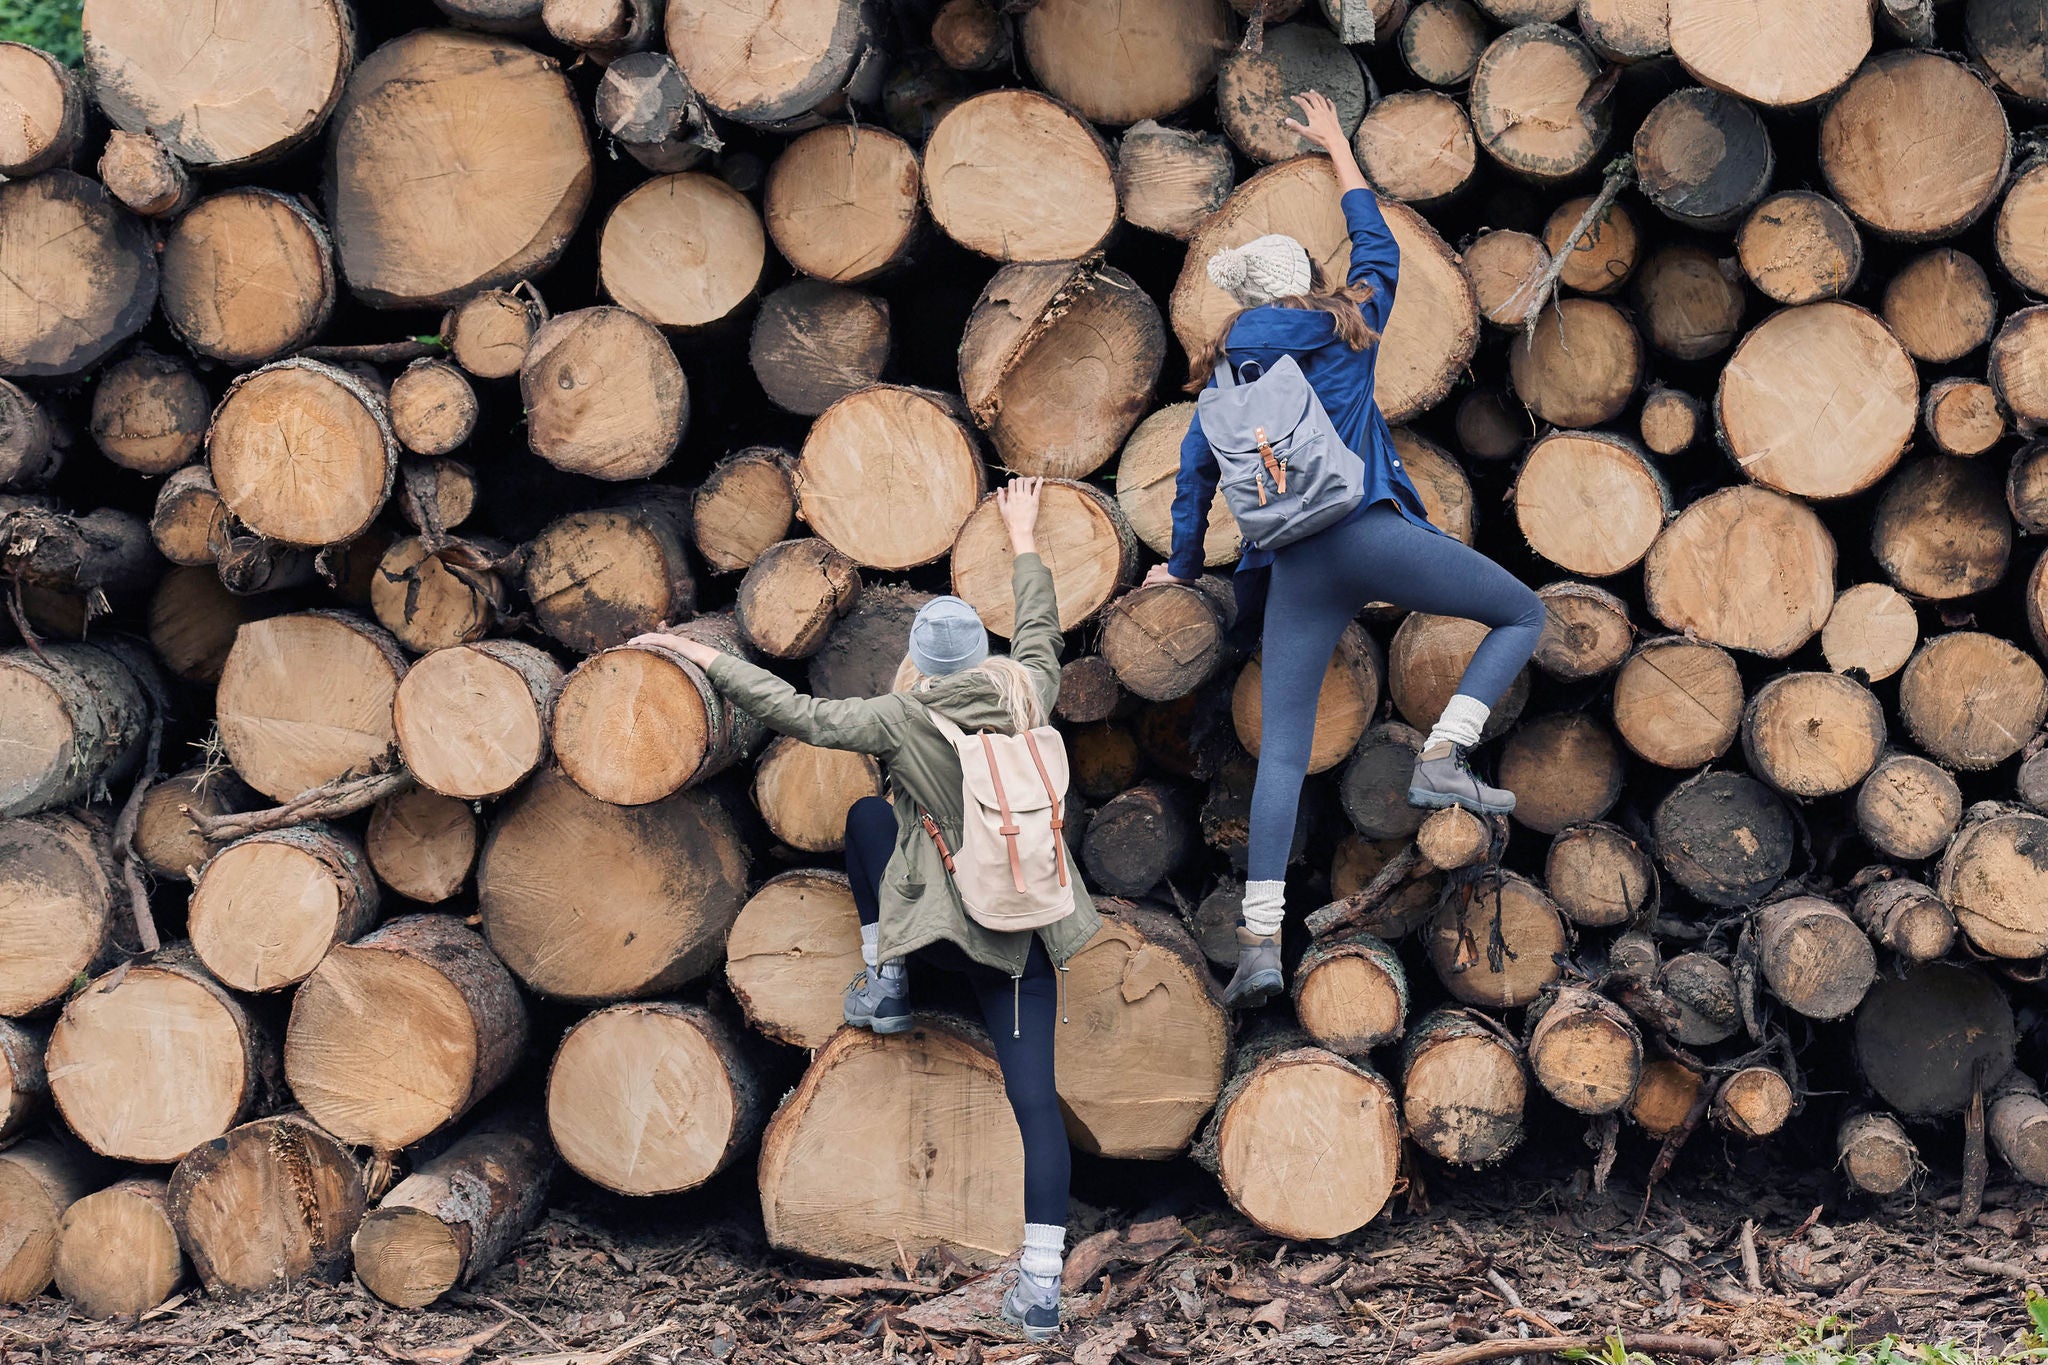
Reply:
<svg viewBox="0 0 2048 1365"><path fill-rule="evenodd" d="M1012 479L997 497L1016 555L1010 587L1016 628L1010 655L989 655L987 630L958 598L938 598L911 624L895 690L827 702L803 696L764 669L672 634L645 634L705 669L711 684L770 729L823 749L883 759L893 804L870 796L846 814L846 872L860 909L868 970L846 990L846 1021L895 1033L911 1025L905 960L967 972L981 1001L1004 1089L1024 1138L1024 1254L1004 1295L1004 1318L1030 1340L1059 1330L1059 1277L1067 1236L1071 1152L1053 1087L1059 972L1094 937L1096 907L1067 857L1073 913L1042 929L997 933L967 917L946 864L918 819L961 845L961 759L932 724L942 712L961 731L1016 735L1047 722L1059 698L1059 602L1038 559L1042 479Z"/></svg>

